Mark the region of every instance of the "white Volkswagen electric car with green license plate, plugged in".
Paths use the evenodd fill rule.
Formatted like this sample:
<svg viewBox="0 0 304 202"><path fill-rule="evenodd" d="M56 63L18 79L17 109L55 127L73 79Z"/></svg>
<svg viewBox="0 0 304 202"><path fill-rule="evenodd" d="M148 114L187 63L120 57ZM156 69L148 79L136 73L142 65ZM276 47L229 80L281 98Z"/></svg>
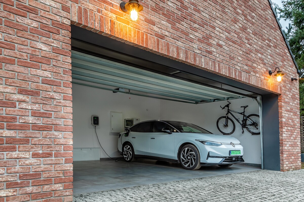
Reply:
<svg viewBox="0 0 304 202"><path fill-rule="evenodd" d="M243 147L234 137L212 134L180 121L143 121L118 137L118 152L128 162L149 158L178 162L187 170L204 165L229 167L244 162Z"/></svg>

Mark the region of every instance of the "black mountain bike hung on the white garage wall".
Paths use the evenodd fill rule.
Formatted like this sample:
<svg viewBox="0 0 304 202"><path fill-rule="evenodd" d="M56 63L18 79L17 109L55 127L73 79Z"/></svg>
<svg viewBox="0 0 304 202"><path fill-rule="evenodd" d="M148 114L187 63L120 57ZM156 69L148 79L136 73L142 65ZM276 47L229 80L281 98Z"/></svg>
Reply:
<svg viewBox="0 0 304 202"><path fill-rule="evenodd" d="M233 132L235 130L235 124L232 121L232 119L228 117L229 114L231 114L231 116L233 116L233 118L242 126L242 134L244 133L244 128L246 128L247 131L249 131L253 135L261 134L261 124L260 124L260 116L259 115L250 114L250 115L247 116L245 114L245 109L248 107L248 105L241 106L242 108L244 108L243 112L233 111L233 110L229 109L230 104L231 103L229 102L224 107L220 106L222 108L222 110L225 109L225 111L227 113L226 113L226 116L222 116L216 121L217 129L219 129L219 131L221 133L223 133L223 135L233 134ZM243 115L242 122L240 121L239 118L236 118L232 114L232 112Z"/></svg>

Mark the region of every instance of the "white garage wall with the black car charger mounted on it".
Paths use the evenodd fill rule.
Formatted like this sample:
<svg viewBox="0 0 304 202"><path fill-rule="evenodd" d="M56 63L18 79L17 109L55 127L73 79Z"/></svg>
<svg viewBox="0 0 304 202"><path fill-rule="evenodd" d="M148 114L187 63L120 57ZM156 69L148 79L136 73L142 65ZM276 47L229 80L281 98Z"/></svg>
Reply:
<svg viewBox="0 0 304 202"><path fill-rule="evenodd" d="M117 152L118 133L110 133L110 112L122 112L125 118L140 118L148 121L160 118L160 100L125 93L113 93L98 88L73 84L73 147L100 147L92 115L99 116L96 126L98 139L110 157L121 157ZM131 98L131 99L129 99ZM100 158L108 156L100 149ZM74 151L75 152L75 151ZM77 153L74 159L77 160ZM89 159L87 159L89 160Z"/></svg>

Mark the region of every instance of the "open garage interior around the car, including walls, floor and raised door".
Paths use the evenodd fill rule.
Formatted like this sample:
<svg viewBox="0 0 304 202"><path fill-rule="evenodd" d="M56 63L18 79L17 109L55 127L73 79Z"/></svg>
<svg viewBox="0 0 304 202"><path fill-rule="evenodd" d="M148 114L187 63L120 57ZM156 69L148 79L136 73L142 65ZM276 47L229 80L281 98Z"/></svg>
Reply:
<svg viewBox="0 0 304 202"><path fill-rule="evenodd" d="M184 170L180 164L138 159L136 163L100 161L122 157L117 152L118 134L128 127L149 120L183 121L221 134L218 118L225 116L223 106L245 114L260 115L259 96L206 78L195 80L172 68L141 66L113 61L101 49L76 41L91 50L72 51L74 194L216 174L253 171L261 167L261 135L244 129L243 116L229 115L235 130L229 136L244 147L242 164L229 168L202 167ZM94 52L92 52L92 50ZM92 115L99 125L92 125ZM102 148L100 147L100 145Z"/></svg>

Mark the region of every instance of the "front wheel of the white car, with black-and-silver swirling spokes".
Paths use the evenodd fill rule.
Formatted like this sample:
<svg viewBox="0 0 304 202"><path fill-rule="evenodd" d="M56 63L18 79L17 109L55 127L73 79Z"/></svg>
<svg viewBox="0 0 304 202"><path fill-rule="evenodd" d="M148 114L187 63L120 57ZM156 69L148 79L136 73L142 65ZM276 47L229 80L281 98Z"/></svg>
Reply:
<svg viewBox="0 0 304 202"><path fill-rule="evenodd" d="M197 170L201 167L199 150L192 144L187 144L181 148L179 162L186 170Z"/></svg>

